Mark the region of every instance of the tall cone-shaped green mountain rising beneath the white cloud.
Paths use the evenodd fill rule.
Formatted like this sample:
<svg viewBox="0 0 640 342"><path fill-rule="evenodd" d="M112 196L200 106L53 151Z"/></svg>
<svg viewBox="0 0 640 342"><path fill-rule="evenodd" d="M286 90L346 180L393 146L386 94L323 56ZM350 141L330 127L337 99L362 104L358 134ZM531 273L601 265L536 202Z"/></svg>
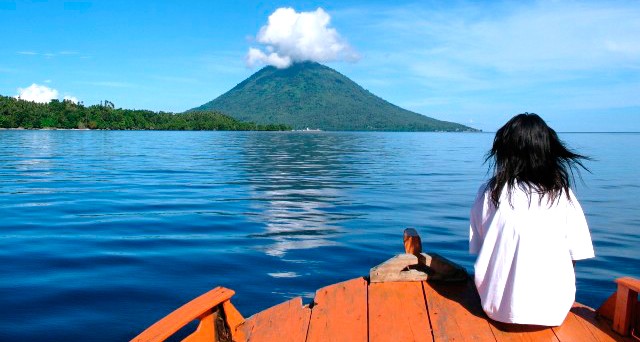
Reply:
<svg viewBox="0 0 640 342"><path fill-rule="evenodd" d="M323 131L477 132L396 106L316 62L267 66L233 89L189 110L221 111L241 121Z"/></svg>

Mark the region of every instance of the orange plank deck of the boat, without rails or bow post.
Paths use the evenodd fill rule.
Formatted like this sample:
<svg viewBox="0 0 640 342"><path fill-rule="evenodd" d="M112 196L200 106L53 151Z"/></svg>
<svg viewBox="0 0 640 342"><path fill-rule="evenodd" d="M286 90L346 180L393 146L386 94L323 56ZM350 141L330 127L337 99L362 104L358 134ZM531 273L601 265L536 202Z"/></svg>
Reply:
<svg viewBox="0 0 640 342"><path fill-rule="evenodd" d="M246 319L248 341L632 341L593 309L576 304L562 326L507 326L482 311L472 281L369 284L365 278L322 288Z"/></svg>

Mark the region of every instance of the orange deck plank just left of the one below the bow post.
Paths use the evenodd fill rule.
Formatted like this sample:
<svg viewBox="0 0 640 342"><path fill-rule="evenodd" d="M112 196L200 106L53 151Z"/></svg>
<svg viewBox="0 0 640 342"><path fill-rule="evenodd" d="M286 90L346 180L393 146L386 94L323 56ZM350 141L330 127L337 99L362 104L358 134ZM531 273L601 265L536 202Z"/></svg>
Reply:
<svg viewBox="0 0 640 342"><path fill-rule="evenodd" d="M356 278L316 292L308 342L367 341L367 282Z"/></svg>

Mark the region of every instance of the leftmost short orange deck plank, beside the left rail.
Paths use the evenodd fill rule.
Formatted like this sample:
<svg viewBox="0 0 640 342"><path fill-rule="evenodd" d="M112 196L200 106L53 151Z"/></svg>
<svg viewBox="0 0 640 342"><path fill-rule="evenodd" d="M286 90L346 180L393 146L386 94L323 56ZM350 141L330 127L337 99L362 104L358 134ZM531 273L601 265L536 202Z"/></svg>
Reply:
<svg viewBox="0 0 640 342"><path fill-rule="evenodd" d="M242 330L250 342L304 342L310 318L311 309L296 297L249 317Z"/></svg>

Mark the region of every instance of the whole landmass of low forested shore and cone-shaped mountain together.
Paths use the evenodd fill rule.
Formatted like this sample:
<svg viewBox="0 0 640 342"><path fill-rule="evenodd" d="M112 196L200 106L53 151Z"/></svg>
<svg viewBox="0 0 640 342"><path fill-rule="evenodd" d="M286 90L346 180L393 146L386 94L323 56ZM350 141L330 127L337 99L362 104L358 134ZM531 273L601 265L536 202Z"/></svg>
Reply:
<svg viewBox="0 0 640 342"><path fill-rule="evenodd" d="M0 128L221 131L477 132L396 106L346 76L315 62L267 66L231 90L184 113L34 103L0 96Z"/></svg>

